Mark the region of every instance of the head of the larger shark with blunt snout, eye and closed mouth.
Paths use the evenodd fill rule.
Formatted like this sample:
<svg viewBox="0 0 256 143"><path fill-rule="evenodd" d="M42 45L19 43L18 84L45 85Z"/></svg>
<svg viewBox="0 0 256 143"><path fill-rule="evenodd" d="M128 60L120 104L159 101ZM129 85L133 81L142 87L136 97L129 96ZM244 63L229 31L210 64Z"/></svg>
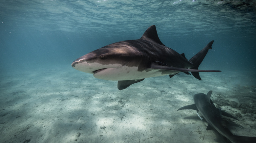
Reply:
<svg viewBox="0 0 256 143"><path fill-rule="evenodd" d="M142 59L140 52L130 42L121 41L92 51L77 58L72 67L99 79L123 79L129 71L138 70Z"/></svg>

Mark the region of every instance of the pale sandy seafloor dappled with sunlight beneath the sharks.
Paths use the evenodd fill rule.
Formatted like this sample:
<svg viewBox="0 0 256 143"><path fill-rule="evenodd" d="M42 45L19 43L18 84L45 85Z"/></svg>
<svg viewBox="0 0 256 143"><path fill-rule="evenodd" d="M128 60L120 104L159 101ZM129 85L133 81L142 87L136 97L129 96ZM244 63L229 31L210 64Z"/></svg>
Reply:
<svg viewBox="0 0 256 143"><path fill-rule="evenodd" d="M255 73L200 75L202 81L184 73L147 78L119 91L117 81L71 65L3 72L0 142L224 143L216 131L206 131L195 110L177 111L209 90L216 107L240 119L230 119L243 126L234 134L256 136Z"/></svg>

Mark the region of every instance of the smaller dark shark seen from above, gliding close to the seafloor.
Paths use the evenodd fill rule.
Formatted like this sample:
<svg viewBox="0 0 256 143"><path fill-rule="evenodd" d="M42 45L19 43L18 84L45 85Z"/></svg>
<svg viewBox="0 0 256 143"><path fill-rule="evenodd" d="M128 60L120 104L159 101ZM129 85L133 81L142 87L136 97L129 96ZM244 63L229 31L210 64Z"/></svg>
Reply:
<svg viewBox="0 0 256 143"><path fill-rule="evenodd" d="M216 130L221 135L229 139L233 143L256 143L256 137L233 135L228 129L229 123L222 119L222 115L238 120L234 116L222 111L220 108L216 108L212 100L210 99L212 91L209 91L207 95L198 93L194 95L195 104L181 107L179 110L193 109L200 112L203 118L207 121L208 126L206 130ZM200 116L199 116L200 117ZM202 118L200 117L202 120Z"/></svg>

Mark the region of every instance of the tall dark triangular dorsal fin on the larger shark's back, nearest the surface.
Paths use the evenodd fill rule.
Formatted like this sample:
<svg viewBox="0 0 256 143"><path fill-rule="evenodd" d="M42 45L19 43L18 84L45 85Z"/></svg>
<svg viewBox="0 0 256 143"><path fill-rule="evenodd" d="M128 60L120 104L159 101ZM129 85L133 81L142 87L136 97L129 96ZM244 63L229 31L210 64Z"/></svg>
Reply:
<svg viewBox="0 0 256 143"><path fill-rule="evenodd" d="M156 29L156 25L152 25L150 27L148 27L148 29L144 32L144 34L142 35L142 37L140 39L151 39L157 43L159 43L160 45L165 46L159 39L158 35L157 35L157 29Z"/></svg>

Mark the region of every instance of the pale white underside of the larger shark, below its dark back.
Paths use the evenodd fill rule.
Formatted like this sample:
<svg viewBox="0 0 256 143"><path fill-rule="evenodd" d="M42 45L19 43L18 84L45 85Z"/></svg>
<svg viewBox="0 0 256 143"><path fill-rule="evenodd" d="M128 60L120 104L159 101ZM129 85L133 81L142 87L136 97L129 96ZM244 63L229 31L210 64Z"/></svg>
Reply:
<svg viewBox="0 0 256 143"><path fill-rule="evenodd" d="M175 74L179 71L165 71L159 69L146 69L138 71L138 67L122 66L120 68L106 68L101 71L95 72L93 76L98 79L104 80L137 80L149 77L157 77L169 74Z"/></svg>

